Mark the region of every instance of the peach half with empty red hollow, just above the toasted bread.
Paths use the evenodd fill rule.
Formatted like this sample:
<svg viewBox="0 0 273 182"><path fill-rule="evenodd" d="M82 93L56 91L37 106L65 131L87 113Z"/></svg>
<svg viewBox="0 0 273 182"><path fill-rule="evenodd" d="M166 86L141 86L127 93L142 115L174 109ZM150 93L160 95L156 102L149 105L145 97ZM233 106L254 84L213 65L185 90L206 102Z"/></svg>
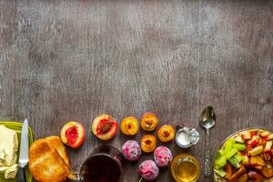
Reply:
<svg viewBox="0 0 273 182"><path fill-rule="evenodd" d="M66 123L61 130L61 139L69 147L80 147L86 136L86 129L80 123L71 121Z"/></svg>

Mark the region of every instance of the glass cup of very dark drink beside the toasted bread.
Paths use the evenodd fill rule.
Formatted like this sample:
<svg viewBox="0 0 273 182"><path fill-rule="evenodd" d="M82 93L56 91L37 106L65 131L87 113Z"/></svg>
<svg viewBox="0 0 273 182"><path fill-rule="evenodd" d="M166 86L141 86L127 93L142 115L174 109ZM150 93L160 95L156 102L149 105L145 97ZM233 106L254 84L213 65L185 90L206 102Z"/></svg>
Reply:
<svg viewBox="0 0 273 182"><path fill-rule="evenodd" d="M122 182L124 157L112 146L96 147L80 167L82 182Z"/></svg>

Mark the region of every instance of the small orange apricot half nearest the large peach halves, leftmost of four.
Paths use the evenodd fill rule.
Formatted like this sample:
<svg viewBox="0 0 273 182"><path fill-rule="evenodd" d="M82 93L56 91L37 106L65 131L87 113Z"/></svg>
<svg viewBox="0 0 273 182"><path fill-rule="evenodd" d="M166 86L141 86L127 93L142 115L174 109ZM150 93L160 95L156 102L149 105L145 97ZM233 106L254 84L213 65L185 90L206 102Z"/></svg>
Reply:
<svg viewBox="0 0 273 182"><path fill-rule="evenodd" d="M136 117L128 116L122 119L120 123L122 133L127 136L134 136L138 132L139 126Z"/></svg>

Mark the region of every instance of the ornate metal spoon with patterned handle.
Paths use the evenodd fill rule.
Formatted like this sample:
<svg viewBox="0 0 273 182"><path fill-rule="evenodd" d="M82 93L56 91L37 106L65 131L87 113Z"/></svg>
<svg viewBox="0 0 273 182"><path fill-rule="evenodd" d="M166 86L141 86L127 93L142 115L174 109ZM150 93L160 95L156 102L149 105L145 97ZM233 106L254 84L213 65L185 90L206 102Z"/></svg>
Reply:
<svg viewBox="0 0 273 182"><path fill-rule="evenodd" d="M210 177L211 160L210 160L210 148L209 148L209 129L215 126L216 115L212 106L207 106L199 119L200 126L206 129L205 138L205 177Z"/></svg>

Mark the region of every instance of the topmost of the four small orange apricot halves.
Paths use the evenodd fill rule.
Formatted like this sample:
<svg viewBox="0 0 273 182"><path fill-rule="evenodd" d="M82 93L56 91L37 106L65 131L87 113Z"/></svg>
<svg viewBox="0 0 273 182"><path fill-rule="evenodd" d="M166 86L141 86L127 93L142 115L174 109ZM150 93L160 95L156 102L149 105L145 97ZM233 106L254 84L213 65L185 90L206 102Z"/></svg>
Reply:
<svg viewBox="0 0 273 182"><path fill-rule="evenodd" d="M146 113L142 116L141 127L146 131L154 131L158 125L158 118L154 113Z"/></svg>

